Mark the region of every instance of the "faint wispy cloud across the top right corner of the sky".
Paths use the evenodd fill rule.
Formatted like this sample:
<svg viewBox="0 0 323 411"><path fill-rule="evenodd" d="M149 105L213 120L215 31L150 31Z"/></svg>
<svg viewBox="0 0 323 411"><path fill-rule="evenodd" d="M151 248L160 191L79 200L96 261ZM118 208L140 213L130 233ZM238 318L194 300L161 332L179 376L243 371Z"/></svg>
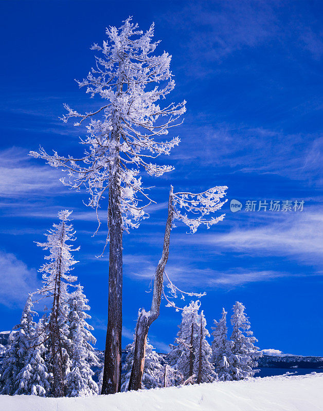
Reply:
<svg viewBox="0 0 323 411"><path fill-rule="evenodd" d="M222 63L232 55L272 44L276 45L278 58L281 52L295 60L307 51L308 57L320 59L323 43L314 18L310 6L300 18L291 3L253 1L188 2L186 7L164 15L165 24L171 25L174 32L185 29L188 36L187 42L177 45L183 48L181 72L203 79L227 70ZM252 63L250 59L247 67Z"/></svg>

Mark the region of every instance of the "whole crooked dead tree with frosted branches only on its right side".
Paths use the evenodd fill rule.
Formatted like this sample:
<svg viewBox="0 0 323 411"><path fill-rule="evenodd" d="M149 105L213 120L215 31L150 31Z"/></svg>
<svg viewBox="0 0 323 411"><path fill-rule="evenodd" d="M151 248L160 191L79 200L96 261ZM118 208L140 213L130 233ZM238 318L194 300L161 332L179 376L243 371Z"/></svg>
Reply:
<svg viewBox="0 0 323 411"><path fill-rule="evenodd" d="M205 216L218 211L223 206L226 200L221 201L221 198L225 196L226 189L226 186L217 186L199 194L189 192L174 193L173 187L171 186L168 200L168 215L164 235L163 253L161 254L161 258L155 271L151 309L147 312L144 308L142 308L138 314L135 333L136 344L134 363L129 381L129 390L137 390L141 388L143 366L145 365L145 346L148 330L151 324L159 316L161 295L163 294L165 296L169 306L175 307L175 303L170 300L164 292L164 273L169 256L170 234L173 227L173 222L176 219L180 220L190 228L191 233L195 233L201 224L204 224L207 228L210 228L212 225L223 220L225 214L222 214L217 218L212 217L210 219L206 219ZM190 213L193 217L188 216L185 212ZM184 292L178 289L171 282L166 273L165 276L169 282L168 287L171 290L172 296L176 296L176 291L182 293L182 295L203 295Z"/></svg>

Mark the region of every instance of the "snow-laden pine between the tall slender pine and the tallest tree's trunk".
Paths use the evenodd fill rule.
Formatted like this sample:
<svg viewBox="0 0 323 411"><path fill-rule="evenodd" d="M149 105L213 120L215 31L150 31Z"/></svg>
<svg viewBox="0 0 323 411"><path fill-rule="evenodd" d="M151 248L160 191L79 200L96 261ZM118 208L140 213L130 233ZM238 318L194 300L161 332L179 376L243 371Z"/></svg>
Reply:
<svg viewBox="0 0 323 411"><path fill-rule="evenodd" d="M83 287L78 285L67 302L69 322L69 359L70 371L66 378L67 397L87 397L98 394L98 386L93 381L94 371L91 365L99 366L100 362L92 344L96 343L91 330L93 327L86 320L91 319L87 314L90 307L83 293Z"/></svg>

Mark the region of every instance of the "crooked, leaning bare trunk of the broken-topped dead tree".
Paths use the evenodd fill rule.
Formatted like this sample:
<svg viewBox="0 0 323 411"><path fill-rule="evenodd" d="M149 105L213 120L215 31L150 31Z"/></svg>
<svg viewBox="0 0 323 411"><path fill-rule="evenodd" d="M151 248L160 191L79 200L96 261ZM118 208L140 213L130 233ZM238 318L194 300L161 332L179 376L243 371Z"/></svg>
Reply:
<svg viewBox="0 0 323 411"><path fill-rule="evenodd" d="M163 254L159 260L155 271L154 279L154 290L151 303L151 309L146 312L145 309L139 312L137 327L136 327L136 342L135 342L135 352L134 352L134 362L131 370L131 376L129 380L129 390L141 389L141 379L143 373L143 367L145 366L145 351L146 351L146 341L149 327L158 318L161 292L163 291L163 281L164 281L164 269L169 256L169 243L170 243L170 233L172 230L173 223L173 201L172 201L173 188L171 187L168 200L168 216L166 221L166 229L164 236L164 246Z"/></svg>

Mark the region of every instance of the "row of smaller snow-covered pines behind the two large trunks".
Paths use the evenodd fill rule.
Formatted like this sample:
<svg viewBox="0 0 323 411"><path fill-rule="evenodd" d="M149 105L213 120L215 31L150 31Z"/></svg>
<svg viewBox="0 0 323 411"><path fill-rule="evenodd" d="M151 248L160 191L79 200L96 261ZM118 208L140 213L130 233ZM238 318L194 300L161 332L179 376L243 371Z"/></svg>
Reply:
<svg viewBox="0 0 323 411"><path fill-rule="evenodd" d="M59 213L59 224L45 234L46 242L37 245L49 250L45 256L43 287L30 293L20 324L10 333L0 367L1 394L36 395L40 397L84 397L98 395L102 389L104 364L94 349L96 339L87 320L89 306L83 287L70 271L78 262L72 252L75 231L69 223L71 212ZM33 298L38 298L33 300ZM38 315L33 304L46 298L50 309L36 323ZM226 312L219 321L214 320L212 345L206 328L200 302L192 301L182 309L182 322L178 326L174 344L167 355L167 363L148 340L141 388L169 387L212 381L241 380L252 377L261 352L250 331L244 306L237 302L232 310L231 339L227 340ZM140 313L139 313L140 315ZM121 391L129 386L134 368L136 335L128 351L121 373ZM101 368L98 384L93 367ZM59 384L58 384L59 382Z"/></svg>

